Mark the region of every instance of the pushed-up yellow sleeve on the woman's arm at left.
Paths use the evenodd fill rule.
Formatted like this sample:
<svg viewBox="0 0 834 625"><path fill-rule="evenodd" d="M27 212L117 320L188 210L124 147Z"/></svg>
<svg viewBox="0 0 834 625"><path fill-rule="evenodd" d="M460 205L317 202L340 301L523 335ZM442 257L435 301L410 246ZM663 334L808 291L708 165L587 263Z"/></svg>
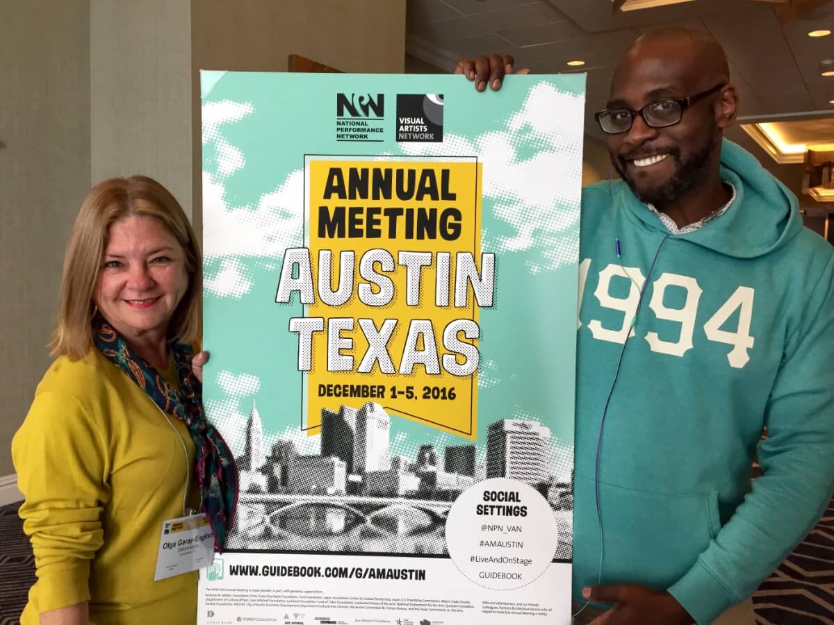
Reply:
<svg viewBox="0 0 834 625"><path fill-rule="evenodd" d="M90 598L90 561L102 546L110 462L100 428L78 400L38 393L12 441L23 531L38 575L38 610Z"/></svg>

